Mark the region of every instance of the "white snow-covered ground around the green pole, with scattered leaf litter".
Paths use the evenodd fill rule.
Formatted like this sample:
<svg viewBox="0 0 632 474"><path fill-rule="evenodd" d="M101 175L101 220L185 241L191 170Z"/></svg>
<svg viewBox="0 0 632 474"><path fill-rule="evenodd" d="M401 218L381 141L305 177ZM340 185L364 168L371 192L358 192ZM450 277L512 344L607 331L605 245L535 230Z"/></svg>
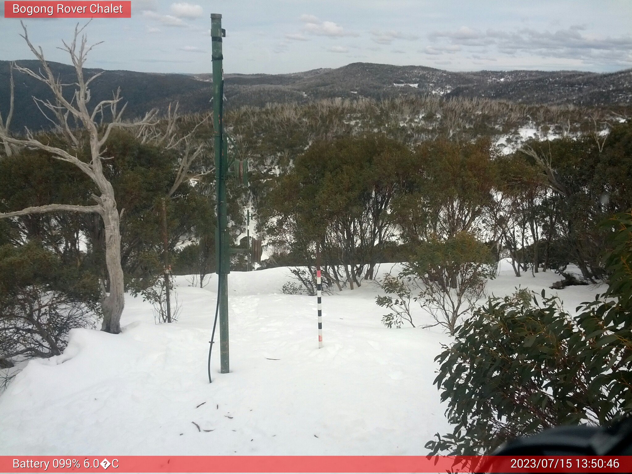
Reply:
<svg viewBox="0 0 632 474"><path fill-rule="evenodd" d="M128 296L122 334L73 330L63 355L32 360L0 395L0 454L427 454L449 431L432 381L450 337L387 329L367 283L323 297L318 349L316 298L281 293L289 279L285 268L230 274L231 373L219 374L216 344L212 384L216 276L204 289L178 277L176 324L154 324L149 303ZM504 262L488 289L559 279L516 278ZM559 294L571 310L598 291Z"/></svg>

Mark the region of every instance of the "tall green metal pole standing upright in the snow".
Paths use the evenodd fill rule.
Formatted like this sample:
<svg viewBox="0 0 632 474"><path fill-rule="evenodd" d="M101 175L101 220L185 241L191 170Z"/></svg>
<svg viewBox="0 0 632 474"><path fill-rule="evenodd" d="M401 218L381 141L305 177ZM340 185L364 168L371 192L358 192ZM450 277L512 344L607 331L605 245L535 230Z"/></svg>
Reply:
<svg viewBox="0 0 632 474"><path fill-rule="evenodd" d="M210 35L212 39L212 63L213 63L213 138L215 150L216 169L216 198L217 198L217 233L216 256L217 277L219 279L219 351L220 372L230 372L228 358L228 272L229 238L228 216L226 212L226 171L228 171L228 159L224 150L224 130L222 107L224 104L224 71L222 68L222 37L226 32L222 30L222 15L212 13L210 15Z"/></svg>

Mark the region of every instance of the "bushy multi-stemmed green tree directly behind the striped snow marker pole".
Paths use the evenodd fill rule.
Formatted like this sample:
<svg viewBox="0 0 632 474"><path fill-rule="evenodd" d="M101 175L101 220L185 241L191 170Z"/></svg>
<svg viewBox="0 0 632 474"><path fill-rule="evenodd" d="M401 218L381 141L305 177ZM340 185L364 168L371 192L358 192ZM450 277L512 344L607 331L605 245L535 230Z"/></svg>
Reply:
<svg viewBox="0 0 632 474"><path fill-rule="evenodd" d="M380 135L312 143L270 192L269 243L311 264L320 241L327 281L360 286L392 238L392 197L410 152ZM274 217L274 219L272 219ZM340 265L329 271L329 265Z"/></svg>

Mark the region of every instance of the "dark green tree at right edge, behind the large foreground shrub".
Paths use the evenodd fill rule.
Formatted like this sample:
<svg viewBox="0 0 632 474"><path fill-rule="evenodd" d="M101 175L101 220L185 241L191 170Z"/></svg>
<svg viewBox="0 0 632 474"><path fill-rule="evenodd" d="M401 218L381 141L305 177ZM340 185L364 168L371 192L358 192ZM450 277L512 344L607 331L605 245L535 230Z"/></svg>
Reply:
<svg viewBox="0 0 632 474"><path fill-rule="evenodd" d="M602 250L608 231L600 222L632 207L630 143L632 122L613 126L601 147L586 135L532 143L550 166L547 170L540 164L540 173L554 190L542 208L554 222L547 223L547 234L556 241L556 250L564 251L555 259L560 266L554 268L564 270L572 263L587 280L607 276Z"/></svg>

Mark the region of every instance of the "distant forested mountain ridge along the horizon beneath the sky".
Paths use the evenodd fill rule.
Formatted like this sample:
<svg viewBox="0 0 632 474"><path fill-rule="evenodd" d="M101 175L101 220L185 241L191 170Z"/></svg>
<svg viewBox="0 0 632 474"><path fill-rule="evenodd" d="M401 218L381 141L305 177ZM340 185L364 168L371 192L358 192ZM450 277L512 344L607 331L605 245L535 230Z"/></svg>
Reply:
<svg viewBox="0 0 632 474"><path fill-rule="evenodd" d="M18 61L37 70L34 60ZM62 82L73 82L73 68L49 63ZM87 69L92 75L100 69ZM186 75L107 70L92 83L94 103L109 99L121 87L128 102L128 117L140 116L152 107L165 109L178 100L182 111L210 109L210 74ZM451 72L426 66L352 63L336 69L317 69L290 74L226 74L224 94L228 107L264 106L268 102L309 102L331 97L380 99L401 94L433 94L441 97L487 97L529 104L553 103L578 106L632 104L632 70L615 73L585 71L475 71ZM35 130L50 123L37 110L32 96L46 99L49 92L39 81L15 75L16 97L12 130ZM9 62L0 61L0 111L9 103Z"/></svg>

